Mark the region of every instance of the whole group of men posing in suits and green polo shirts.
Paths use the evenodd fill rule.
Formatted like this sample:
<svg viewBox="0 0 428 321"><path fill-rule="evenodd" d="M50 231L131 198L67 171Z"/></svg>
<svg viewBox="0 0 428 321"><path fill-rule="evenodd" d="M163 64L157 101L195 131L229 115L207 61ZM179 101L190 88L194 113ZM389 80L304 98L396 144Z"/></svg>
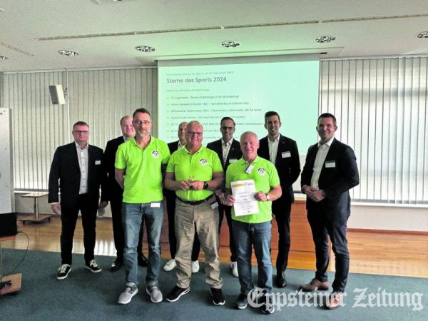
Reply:
<svg viewBox="0 0 428 321"><path fill-rule="evenodd" d="M297 144L280 134L280 116L265 113L267 136L258 140L250 131L233 138L235 121L220 122L222 138L202 145L203 126L198 121L180 123L177 142L168 145L151 135L151 116L138 108L133 116L121 119L123 136L101 148L88 145L89 126L73 126L74 142L57 148L49 175L49 203L61 214L61 260L57 278L71 270L73 232L80 210L85 245L86 268L101 272L93 258L96 211L111 203L113 234L117 250L111 270L125 265L126 287L118 303L127 304L138 292L138 263L143 262L141 233L146 225L148 260L146 293L151 302L161 302L158 284L161 267L160 236L163 198L168 212L169 260L164 270L175 269L177 283L166 300L175 302L190 291L192 272L199 270L199 247L205 253L206 282L214 305L224 305L221 290L219 233L226 217L230 235L230 267L239 277L240 295L235 307L245 309L254 295L251 255L258 263L258 300L261 311L274 312L272 303L272 262L270 258L271 220L275 217L279 240L276 259L277 287L285 287L290 250L290 212L294 202L292 184L300 175ZM307 195L307 219L315 243L316 272L302 291L328 290L328 240L335 253L336 274L326 307L339 307L349 270L346 224L350 215L350 188L359 183L352 148L335 139L336 118L323 113L317 121L320 141L307 151L301 175L302 193ZM114 160L114 161L113 161ZM233 184L250 180L255 208L235 212L239 194ZM98 204L101 186L101 200ZM58 188L61 187L61 203ZM235 205L235 206L234 206ZM143 265L143 264L141 264Z"/></svg>

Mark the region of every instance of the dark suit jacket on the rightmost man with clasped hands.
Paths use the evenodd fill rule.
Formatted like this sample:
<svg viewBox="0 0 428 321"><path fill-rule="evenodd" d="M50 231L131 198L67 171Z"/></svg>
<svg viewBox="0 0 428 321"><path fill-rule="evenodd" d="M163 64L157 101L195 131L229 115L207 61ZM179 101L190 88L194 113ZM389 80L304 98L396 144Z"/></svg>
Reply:
<svg viewBox="0 0 428 321"><path fill-rule="evenodd" d="M310 186L318 144L310 146L307 151L305 166L302 171L301 185ZM334 162L334 167L332 166ZM330 163L326 167L325 163ZM321 202L306 201L308 215L315 206L323 206L327 218L347 220L350 216L351 200L349 190L360 183L355 153L350 146L340 143L335 138L322 165L318 186L324 190L327 198Z"/></svg>

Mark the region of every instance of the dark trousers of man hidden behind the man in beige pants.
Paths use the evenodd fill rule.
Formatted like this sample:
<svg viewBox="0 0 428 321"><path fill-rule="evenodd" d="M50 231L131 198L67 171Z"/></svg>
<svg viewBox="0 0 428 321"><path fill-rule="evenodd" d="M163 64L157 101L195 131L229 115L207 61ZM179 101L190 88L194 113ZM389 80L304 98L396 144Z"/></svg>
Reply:
<svg viewBox="0 0 428 321"><path fill-rule="evenodd" d="M177 253L177 237L175 236L175 192L171 190L163 191L166 200L166 211L168 212L168 240L170 243L170 254L171 258L175 258ZM192 248L192 261L197 261L200 252L200 242L198 234L195 233L195 239L193 240Z"/></svg>

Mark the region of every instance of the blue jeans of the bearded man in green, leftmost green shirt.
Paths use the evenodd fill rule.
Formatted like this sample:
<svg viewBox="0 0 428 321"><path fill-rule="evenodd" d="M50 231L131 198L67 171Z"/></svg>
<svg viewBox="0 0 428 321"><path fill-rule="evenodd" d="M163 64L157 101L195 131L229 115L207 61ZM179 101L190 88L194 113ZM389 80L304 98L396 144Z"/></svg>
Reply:
<svg viewBox="0 0 428 321"><path fill-rule="evenodd" d="M159 205L159 207L152 207ZM160 202L122 205L122 226L125 234L124 262L126 270L126 282L137 282L137 245L140 233L141 220L145 221L148 243L148 267L146 284L157 285L159 270L161 268L161 229L163 222L163 204Z"/></svg>

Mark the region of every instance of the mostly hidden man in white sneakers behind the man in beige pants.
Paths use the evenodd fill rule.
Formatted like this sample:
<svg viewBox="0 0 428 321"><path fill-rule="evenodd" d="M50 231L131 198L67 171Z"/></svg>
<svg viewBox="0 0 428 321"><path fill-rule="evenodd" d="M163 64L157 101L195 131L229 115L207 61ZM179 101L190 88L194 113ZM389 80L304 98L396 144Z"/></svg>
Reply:
<svg viewBox="0 0 428 321"><path fill-rule="evenodd" d="M173 155L175 151L178 151L180 148L185 146L185 133L187 131L187 124L185 121L178 125L178 141L173 141L168 143L168 148L170 154ZM168 239L170 244L170 255L171 259L168 260L165 265L163 265L163 270L166 272L172 271L177 266L175 262L175 253L177 252L177 238L175 237L175 192L173 190L163 189L163 195L165 195L166 200L166 210L168 211ZM200 252L200 242L198 239L198 234L195 233L195 239L193 240L192 248L192 273L199 272L199 252Z"/></svg>

